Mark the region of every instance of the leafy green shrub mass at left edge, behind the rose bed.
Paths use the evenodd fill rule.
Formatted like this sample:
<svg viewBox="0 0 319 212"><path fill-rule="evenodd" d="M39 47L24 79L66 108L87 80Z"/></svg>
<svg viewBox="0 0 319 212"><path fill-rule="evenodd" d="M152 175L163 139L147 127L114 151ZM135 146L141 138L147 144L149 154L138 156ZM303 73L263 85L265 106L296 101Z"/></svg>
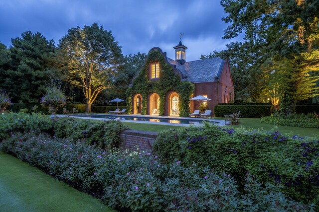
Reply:
<svg viewBox="0 0 319 212"><path fill-rule="evenodd" d="M52 131L49 117L40 113L4 113L0 115L0 142L10 136L10 132L47 132Z"/></svg>

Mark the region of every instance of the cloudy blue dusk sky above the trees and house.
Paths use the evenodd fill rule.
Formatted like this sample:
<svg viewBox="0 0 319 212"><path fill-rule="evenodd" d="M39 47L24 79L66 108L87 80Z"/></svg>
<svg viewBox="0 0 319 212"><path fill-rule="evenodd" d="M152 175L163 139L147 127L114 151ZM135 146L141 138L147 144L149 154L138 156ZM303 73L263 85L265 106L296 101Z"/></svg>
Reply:
<svg viewBox="0 0 319 212"><path fill-rule="evenodd" d="M22 32L40 32L59 43L68 29L94 22L111 31L124 55L160 47L174 59L183 33L186 61L198 60L234 40L223 40L227 25L220 0L0 0L0 42L7 48ZM237 39L238 40L238 39Z"/></svg>

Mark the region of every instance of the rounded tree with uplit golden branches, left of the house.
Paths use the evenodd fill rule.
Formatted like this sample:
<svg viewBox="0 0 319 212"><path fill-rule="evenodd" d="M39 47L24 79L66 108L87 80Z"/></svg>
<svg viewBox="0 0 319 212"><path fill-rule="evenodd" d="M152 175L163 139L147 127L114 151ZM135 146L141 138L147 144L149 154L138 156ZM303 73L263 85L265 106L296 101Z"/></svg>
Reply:
<svg viewBox="0 0 319 212"><path fill-rule="evenodd" d="M87 112L99 93L111 87L122 50L111 31L92 26L68 30L59 42L64 79L80 88L86 98Z"/></svg>

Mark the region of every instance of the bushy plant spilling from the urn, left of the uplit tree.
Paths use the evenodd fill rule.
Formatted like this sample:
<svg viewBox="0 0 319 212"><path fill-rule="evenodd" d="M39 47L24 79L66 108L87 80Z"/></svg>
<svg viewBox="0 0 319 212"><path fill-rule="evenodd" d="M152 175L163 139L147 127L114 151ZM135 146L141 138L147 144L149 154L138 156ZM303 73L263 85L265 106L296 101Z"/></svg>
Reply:
<svg viewBox="0 0 319 212"><path fill-rule="evenodd" d="M62 81L51 79L51 82L46 85L45 95L41 98L40 103L43 106L63 107L66 105L66 96L61 90Z"/></svg>

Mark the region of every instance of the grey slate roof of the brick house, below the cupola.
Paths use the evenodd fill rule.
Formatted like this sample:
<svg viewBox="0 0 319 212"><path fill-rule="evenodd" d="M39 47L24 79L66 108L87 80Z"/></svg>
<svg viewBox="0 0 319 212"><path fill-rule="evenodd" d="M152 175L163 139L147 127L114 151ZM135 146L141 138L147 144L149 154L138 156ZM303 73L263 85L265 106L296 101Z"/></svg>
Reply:
<svg viewBox="0 0 319 212"><path fill-rule="evenodd" d="M225 60L221 58L208 58L197 61L186 62L183 65L167 58L171 65L175 65L186 80L194 83L218 81ZM216 79L217 77L217 79Z"/></svg>

